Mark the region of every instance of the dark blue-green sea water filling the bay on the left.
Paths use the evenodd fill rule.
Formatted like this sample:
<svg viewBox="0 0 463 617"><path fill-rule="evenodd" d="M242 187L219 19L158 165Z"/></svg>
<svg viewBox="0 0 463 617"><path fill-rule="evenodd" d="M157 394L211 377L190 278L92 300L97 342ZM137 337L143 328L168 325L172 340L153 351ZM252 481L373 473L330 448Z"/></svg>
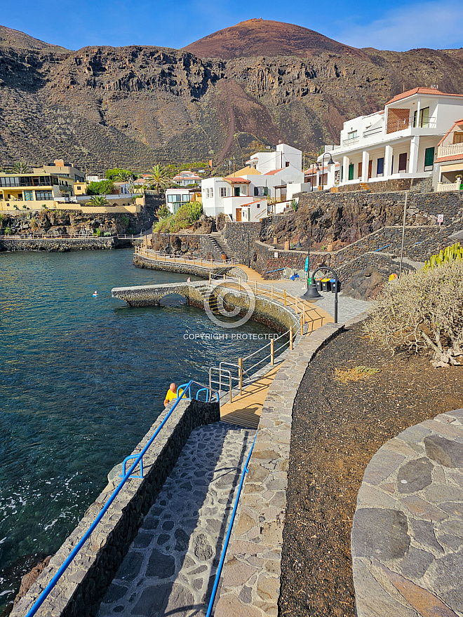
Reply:
<svg viewBox="0 0 463 617"><path fill-rule="evenodd" d="M132 250L0 253L0 613L145 435L170 382L204 380L201 365L262 346L185 340L222 330L192 306L112 299L112 287L185 278L132 260Z"/></svg>

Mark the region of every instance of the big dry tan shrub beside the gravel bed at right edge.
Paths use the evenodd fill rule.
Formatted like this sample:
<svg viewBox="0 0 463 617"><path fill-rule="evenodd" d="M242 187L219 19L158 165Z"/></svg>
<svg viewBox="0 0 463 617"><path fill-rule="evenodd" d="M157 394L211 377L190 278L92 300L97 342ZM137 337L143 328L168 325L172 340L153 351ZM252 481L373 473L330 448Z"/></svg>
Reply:
<svg viewBox="0 0 463 617"><path fill-rule="evenodd" d="M455 358L463 355L463 262L421 269L388 283L365 331L393 352L431 353L434 367L459 364Z"/></svg>

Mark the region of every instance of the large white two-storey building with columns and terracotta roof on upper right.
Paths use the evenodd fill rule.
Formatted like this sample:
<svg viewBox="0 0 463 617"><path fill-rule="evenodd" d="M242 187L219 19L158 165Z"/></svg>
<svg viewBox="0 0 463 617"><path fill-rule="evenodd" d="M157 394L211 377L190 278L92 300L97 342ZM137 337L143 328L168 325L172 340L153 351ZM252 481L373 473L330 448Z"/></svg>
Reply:
<svg viewBox="0 0 463 617"><path fill-rule="evenodd" d="M384 110L344 122L339 146L318 157L328 165L326 187L431 177L437 145L463 115L463 95L414 88L392 98ZM335 165L340 163L339 182Z"/></svg>

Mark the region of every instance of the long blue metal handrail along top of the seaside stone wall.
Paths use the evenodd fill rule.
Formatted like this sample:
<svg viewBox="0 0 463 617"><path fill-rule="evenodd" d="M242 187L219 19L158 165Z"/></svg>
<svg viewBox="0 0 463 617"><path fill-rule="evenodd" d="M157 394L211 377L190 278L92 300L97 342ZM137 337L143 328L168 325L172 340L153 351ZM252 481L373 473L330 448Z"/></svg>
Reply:
<svg viewBox="0 0 463 617"><path fill-rule="evenodd" d="M129 480L129 478L135 478L135 477L142 478L143 477L143 460L142 460L143 456L147 453L147 450L148 450L149 446L152 445L152 442L154 442L154 440L159 435L159 432L161 431L163 426L166 424L166 422L168 421L170 416L173 414L173 411L175 410L175 407L177 407L177 405L179 404L180 400L182 400L182 398L184 398L184 400L188 400L188 399L192 400L191 394L192 394L192 385L193 384L196 384L196 386L201 386L199 391L196 392L196 400L199 400L198 399L198 394L202 390L207 389L208 393L209 393L209 388L204 388L203 384L199 384L197 381L193 381L192 379L190 379L190 381L187 384L183 384L182 386L179 386L179 390L180 390L180 388L182 389L182 393L180 394L180 397L175 399L175 403L173 404L171 409L169 409L168 414L163 419L163 421L158 426L158 428L156 428L156 430L154 431L152 437L149 438L149 441L147 442L147 445L145 445L145 447L142 449L140 454L135 454L134 456L127 456L126 459L124 459L124 461L123 461L124 475L123 475L123 477L120 476L123 479L121 480L121 482L119 482L119 484L117 485L116 489L114 489L112 495L109 497L108 501L105 503L105 506L102 507L102 509L100 510L100 513L95 518L93 523L90 525L88 530L85 532L85 534L83 534L83 536L81 537L79 542L75 545L75 547L69 553L69 555L67 556L65 561L60 566L60 569L58 569L58 571L56 572L55 576L53 576L53 578L48 583L48 585L46 585L46 588L41 592L39 597L36 599L36 601L34 602L34 605L27 612L26 617L32 617L33 615L35 615L35 613L39 610L39 608L41 607L43 602L45 602L45 600L48 597L48 595L50 594L51 590L53 590L53 588L55 587L56 583L58 583L58 581L60 580L61 576L65 573L65 571L66 571L67 567L69 566L69 564L72 562L72 560L74 559L74 557L76 557L76 555L79 552L79 550L81 550L83 545L86 543L86 541L88 540L90 535L95 530L95 527L98 525L100 520L102 520L102 517L105 515L105 513L107 513L107 510L109 509L109 506L111 506L111 504L113 503L114 499L116 499L116 496L121 491L121 488L123 487L123 485L126 484L127 480ZM188 397L185 396L187 393L189 395ZM210 393L212 394L212 391L210 391ZM216 394L217 394L217 400L219 400L219 395L218 395L217 392L216 392ZM125 473L126 461L131 460L131 459L135 459L135 462L130 467L128 472ZM138 463L140 463L140 475L131 475L133 473L133 471L135 470L135 468L137 467Z"/></svg>

